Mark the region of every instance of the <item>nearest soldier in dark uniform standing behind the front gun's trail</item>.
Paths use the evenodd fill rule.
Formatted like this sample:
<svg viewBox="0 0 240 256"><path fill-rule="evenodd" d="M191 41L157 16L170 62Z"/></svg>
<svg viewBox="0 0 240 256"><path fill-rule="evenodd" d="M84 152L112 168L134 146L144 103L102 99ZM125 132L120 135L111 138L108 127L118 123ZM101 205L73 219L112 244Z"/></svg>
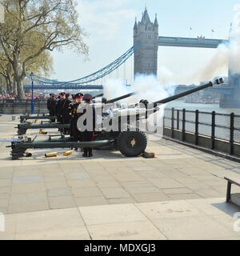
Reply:
<svg viewBox="0 0 240 256"><path fill-rule="evenodd" d="M90 105L93 96L91 94L85 94L83 96L84 103L80 108L78 108L77 112L79 118L82 117L83 126L85 130L80 130L82 132L82 142L91 142L94 140L94 130L95 130L95 108L94 105ZM78 129L81 129L78 127ZM84 148L82 156L92 157L93 149L92 148Z"/></svg>

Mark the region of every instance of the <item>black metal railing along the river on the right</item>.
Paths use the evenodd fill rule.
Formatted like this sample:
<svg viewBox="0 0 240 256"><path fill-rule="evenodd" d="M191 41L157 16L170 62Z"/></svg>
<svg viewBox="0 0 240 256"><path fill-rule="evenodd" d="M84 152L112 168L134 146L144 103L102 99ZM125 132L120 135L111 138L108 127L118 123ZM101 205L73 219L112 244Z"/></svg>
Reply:
<svg viewBox="0 0 240 256"><path fill-rule="evenodd" d="M198 145L199 135L211 138L211 148L215 148L215 140L221 139L230 143L230 154L234 154L234 143L240 143L240 116L234 113L219 114L199 110L165 109L164 127L169 127L171 137L174 130L182 131L182 141L186 132L194 134L195 145Z"/></svg>

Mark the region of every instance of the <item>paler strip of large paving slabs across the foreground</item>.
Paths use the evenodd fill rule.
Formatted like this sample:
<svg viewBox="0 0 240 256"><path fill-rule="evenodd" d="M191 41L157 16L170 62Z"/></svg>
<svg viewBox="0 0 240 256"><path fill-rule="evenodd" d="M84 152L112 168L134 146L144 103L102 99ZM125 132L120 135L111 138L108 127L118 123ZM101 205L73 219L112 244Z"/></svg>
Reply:
<svg viewBox="0 0 240 256"><path fill-rule="evenodd" d="M0 239L240 240L224 198L142 202L6 214Z"/></svg>

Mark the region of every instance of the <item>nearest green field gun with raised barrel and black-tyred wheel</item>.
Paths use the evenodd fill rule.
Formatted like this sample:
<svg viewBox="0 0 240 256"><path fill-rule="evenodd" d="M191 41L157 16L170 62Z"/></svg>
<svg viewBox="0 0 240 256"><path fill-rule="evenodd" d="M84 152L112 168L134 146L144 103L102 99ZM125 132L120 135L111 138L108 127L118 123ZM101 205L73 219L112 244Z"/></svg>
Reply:
<svg viewBox="0 0 240 256"><path fill-rule="evenodd" d="M184 97L188 94L197 92L198 90L206 89L210 86L219 85L223 83L223 78L216 78L212 82L207 83L203 86L198 86L193 90L187 90L182 94L176 94L169 98L164 98L158 102L151 103L151 107L148 108L146 101L141 101L143 104L136 104L133 108L130 109L115 109L109 112L109 114L104 116L102 122L102 129L95 132L94 142L71 142L70 138L60 138L57 140L46 140L46 141L37 141L33 142L31 138L22 136L19 138L19 141L11 142L11 155L12 159L18 159L25 156L27 149L38 149L38 148L102 148L102 147L114 147L116 150L119 150L126 157L137 157L143 154L146 150L147 139L146 134L136 128L135 130L130 130L128 120L131 115L135 115L136 119L139 120L142 117L146 117L146 114L153 114L157 112L158 104L165 104L167 102L174 101L175 99ZM130 94L127 94L130 97ZM126 95L125 95L126 96ZM119 98L118 98L119 100ZM124 123L123 130L106 130L106 122L114 122L114 120L119 119L120 116L126 116L126 123ZM102 116L103 117L103 116ZM79 119L78 119L79 121ZM104 122L105 121L105 122ZM121 119L120 119L121 122ZM79 127L78 127L79 128Z"/></svg>

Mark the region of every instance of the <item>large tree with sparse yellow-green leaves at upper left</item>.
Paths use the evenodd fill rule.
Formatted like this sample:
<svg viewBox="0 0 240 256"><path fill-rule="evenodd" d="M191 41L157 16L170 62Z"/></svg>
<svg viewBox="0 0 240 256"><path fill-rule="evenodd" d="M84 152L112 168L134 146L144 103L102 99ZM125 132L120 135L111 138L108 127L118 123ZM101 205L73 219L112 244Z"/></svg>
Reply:
<svg viewBox="0 0 240 256"><path fill-rule="evenodd" d="M3 0L2 5L6 12L0 46L13 69L19 98L24 98L22 81L27 70L46 51L67 46L88 54L74 0Z"/></svg>

